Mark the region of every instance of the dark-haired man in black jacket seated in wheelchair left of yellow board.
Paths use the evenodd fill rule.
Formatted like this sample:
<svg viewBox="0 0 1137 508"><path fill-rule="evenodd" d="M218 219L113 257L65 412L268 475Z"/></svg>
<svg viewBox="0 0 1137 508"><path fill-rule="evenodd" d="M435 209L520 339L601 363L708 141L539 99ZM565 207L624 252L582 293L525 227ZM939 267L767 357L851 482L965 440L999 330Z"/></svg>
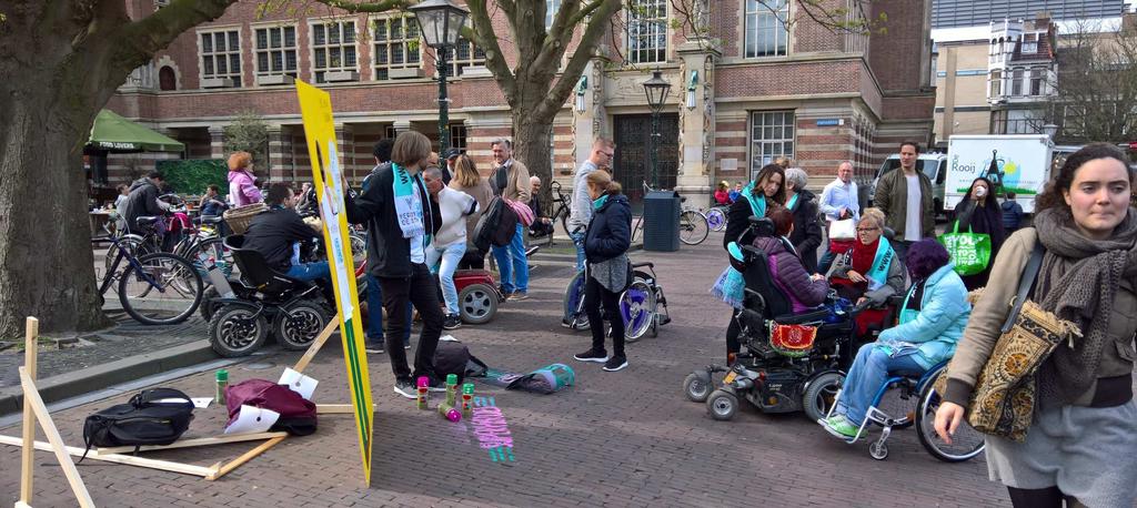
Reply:
<svg viewBox="0 0 1137 508"><path fill-rule="evenodd" d="M292 188L274 183L268 188L268 210L252 217L244 233L244 248L260 252L268 266L298 281L331 282L327 261L300 263L300 243L312 243L316 231L292 209Z"/></svg>

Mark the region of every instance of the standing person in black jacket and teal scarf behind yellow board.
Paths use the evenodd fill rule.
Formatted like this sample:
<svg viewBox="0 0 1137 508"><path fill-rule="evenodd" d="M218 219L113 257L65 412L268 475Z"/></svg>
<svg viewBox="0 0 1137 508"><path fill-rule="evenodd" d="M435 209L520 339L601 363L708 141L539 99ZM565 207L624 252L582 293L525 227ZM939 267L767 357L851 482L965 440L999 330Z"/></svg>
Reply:
<svg viewBox="0 0 1137 508"><path fill-rule="evenodd" d="M352 224L367 225L367 270L383 289L387 315L384 340L395 372L395 393L417 397L414 381L428 376L432 390L442 390L434 373L434 350L442 334L442 310L438 282L426 267L426 247L442 226L442 215L421 172L430 158L430 140L408 131L399 134L391 150L391 164L376 168L363 192L345 195L345 210ZM407 367L402 334L410 327L407 303L423 319L415 369Z"/></svg>

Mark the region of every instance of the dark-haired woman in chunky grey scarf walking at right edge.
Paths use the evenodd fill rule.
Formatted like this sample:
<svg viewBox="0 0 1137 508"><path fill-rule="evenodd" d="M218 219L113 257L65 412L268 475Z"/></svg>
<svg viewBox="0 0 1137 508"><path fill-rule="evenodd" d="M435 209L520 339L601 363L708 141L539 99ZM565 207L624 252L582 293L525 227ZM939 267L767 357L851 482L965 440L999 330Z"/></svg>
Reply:
<svg viewBox="0 0 1137 508"><path fill-rule="evenodd" d="M1024 442L988 435L987 466L1016 507L1131 507L1137 500L1137 209L1132 172L1117 148L1096 143L1067 159L1036 200L1035 227L999 251L971 314L936 431L951 442L976 378L999 340L1019 281L1035 249L1045 248L1029 298L1076 324L1080 336L1057 345L1036 375L1034 418Z"/></svg>

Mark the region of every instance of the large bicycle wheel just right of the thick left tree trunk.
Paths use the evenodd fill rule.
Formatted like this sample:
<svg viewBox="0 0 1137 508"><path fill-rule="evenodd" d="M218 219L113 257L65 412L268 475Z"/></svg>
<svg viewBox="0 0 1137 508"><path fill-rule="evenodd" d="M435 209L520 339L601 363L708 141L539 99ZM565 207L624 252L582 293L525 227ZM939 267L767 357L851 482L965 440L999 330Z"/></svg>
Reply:
<svg viewBox="0 0 1137 508"><path fill-rule="evenodd" d="M201 303L204 291L201 275L193 265L166 252L136 258L118 280L123 310L147 325L185 320Z"/></svg>

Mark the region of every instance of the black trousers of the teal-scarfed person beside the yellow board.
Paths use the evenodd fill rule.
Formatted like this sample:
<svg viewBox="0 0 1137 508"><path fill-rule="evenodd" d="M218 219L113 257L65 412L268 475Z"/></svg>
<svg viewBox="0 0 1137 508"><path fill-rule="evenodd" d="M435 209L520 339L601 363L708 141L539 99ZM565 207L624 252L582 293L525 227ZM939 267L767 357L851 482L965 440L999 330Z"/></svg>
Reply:
<svg viewBox="0 0 1137 508"><path fill-rule="evenodd" d="M434 350L442 335L442 309L438 303L438 281L423 264L410 265L410 276L399 278L376 277L383 288L383 309L387 323L383 338L387 355L391 357L391 370L396 380L414 381L418 376L434 376ZM418 309L423 319L423 331L415 349L415 369L407 367L407 351L402 349L402 336L410 328L407 320L407 303Z"/></svg>

